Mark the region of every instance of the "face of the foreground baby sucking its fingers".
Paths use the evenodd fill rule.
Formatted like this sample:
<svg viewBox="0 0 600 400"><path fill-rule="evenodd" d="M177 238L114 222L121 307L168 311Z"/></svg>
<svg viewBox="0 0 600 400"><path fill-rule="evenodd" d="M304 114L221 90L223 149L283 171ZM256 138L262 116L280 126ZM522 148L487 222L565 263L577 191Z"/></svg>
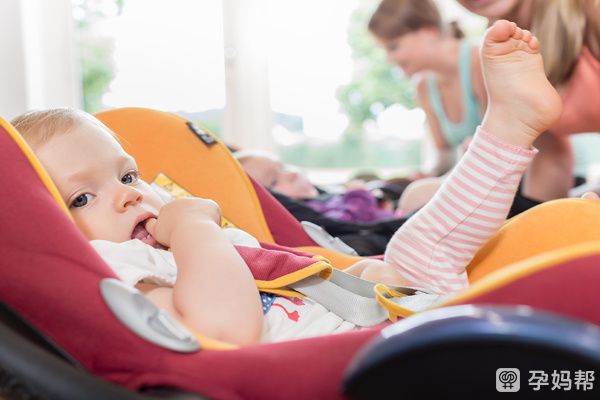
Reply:
<svg viewBox="0 0 600 400"><path fill-rule="evenodd" d="M106 129L80 122L36 154L89 240L140 239L158 247L143 222L156 217L163 202L139 179L135 160Z"/></svg>

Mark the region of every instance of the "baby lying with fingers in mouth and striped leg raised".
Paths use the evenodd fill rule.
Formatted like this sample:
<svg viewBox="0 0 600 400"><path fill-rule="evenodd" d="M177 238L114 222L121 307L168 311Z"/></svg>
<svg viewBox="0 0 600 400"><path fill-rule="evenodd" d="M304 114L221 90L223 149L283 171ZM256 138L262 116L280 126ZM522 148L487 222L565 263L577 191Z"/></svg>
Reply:
<svg viewBox="0 0 600 400"><path fill-rule="evenodd" d="M384 261L363 261L349 272L440 294L468 286L465 266L503 223L535 155L533 141L561 111L539 42L528 31L496 22L481 59L489 107L466 155L432 201L396 232ZM261 302L219 226L218 206L198 198L164 204L114 134L92 116L51 110L13 124L108 265L185 326L238 345L356 329L310 299Z"/></svg>

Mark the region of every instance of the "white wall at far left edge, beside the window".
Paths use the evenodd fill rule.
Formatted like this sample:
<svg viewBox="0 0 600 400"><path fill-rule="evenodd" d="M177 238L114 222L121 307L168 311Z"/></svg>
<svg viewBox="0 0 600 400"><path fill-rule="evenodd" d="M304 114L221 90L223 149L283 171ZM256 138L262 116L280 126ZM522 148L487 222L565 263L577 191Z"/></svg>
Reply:
<svg viewBox="0 0 600 400"><path fill-rule="evenodd" d="M0 115L81 107L70 0L0 1Z"/></svg>

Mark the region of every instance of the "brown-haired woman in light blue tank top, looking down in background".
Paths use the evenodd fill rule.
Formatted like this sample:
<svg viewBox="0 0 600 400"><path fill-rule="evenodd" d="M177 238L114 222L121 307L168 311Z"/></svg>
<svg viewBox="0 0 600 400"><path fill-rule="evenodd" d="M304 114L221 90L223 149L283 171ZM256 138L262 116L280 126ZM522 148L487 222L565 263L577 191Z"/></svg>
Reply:
<svg viewBox="0 0 600 400"><path fill-rule="evenodd" d="M451 25L453 26L453 25ZM486 105L478 49L461 40L462 32L442 26L432 0L383 0L369 21L369 31L388 60L417 83L419 105L437 149L432 175L446 173L455 155L481 122Z"/></svg>

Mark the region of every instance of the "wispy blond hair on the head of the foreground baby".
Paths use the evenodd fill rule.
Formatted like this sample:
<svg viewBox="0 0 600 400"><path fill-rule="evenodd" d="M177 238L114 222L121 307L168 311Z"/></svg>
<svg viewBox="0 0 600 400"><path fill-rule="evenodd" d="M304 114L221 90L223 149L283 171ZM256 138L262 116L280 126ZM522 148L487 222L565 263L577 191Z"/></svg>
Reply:
<svg viewBox="0 0 600 400"><path fill-rule="evenodd" d="M104 124L85 111L73 108L28 111L15 117L11 124L35 150L55 135L65 134L74 126L89 122L114 134Z"/></svg>

